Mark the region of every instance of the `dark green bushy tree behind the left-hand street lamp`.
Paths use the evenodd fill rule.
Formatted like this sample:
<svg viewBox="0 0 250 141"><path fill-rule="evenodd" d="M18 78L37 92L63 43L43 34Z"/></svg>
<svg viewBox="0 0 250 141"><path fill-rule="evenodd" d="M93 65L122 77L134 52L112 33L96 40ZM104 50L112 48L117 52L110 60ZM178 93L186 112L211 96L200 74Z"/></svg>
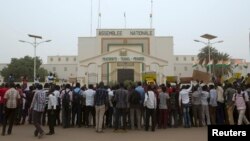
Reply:
<svg viewBox="0 0 250 141"><path fill-rule="evenodd" d="M40 78L45 78L48 75L47 70L44 68L40 68L42 65L42 60L38 57L36 58L36 68L37 69L37 75L39 75ZM4 68L0 73L4 77L4 81L7 81L8 76L10 74L13 74L14 81L20 82L21 77L26 76L28 81L34 80L33 73L34 72L34 58L30 56L25 56L24 58L12 58L11 63L8 64L6 68ZM40 80L44 81L44 80Z"/></svg>

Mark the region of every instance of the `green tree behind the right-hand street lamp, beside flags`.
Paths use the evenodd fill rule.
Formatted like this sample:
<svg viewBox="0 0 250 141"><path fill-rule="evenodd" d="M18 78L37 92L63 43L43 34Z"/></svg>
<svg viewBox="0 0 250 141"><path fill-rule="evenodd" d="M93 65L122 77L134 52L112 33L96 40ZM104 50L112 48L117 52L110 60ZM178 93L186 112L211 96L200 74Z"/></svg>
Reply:
<svg viewBox="0 0 250 141"><path fill-rule="evenodd" d="M219 52L213 47L210 47L210 60L212 61L212 64L209 64L208 46L202 48L197 56L199 64L205 64L207 71L209 69L209 65L211 65L211 71L216 77L228 75L233 71L232 65L230 63L225 63L230 62L230 56L227 53Z"/></svg>

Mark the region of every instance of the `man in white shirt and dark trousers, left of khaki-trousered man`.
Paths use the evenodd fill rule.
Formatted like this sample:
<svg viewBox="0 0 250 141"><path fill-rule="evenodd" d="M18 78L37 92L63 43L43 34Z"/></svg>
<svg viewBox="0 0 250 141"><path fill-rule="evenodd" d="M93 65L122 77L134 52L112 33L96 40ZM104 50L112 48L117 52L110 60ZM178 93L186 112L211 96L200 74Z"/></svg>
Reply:
<svg viewBox="0 0 250 141"><path fill-rule="evenodd" d="M93 117L93 126L95 126L95 107L94 107L94 97L95 90L93 90L94 86L92 84L89 85L89 88L84 91L83 97L86 99L86 127L89 127L89 113L91 113Z"/></svg>

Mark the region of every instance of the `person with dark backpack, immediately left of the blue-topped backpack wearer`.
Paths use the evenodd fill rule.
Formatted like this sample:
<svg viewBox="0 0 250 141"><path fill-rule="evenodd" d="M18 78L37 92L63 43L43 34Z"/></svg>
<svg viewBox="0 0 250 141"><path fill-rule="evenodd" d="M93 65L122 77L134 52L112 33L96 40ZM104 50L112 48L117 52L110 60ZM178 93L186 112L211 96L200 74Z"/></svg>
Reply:
<svg viewBox="0 0 250 141"><path fill-rule="evenodd" d="M70 88L70 84L66 84L65 89L61 92L63 128L69 128L70 126L70 111L72 102L72 91L70 90Z"/></svg>

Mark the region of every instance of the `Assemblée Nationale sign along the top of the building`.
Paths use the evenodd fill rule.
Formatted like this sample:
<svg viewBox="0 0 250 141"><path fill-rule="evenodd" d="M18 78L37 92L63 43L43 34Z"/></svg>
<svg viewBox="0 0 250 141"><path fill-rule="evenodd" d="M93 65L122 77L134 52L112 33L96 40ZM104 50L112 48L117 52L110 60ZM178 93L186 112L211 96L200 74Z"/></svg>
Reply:
<svg viewBox="0 0 250 141"><path fill-rule="evenodd" d="M97 36L153 36L153 29L131 29L131 30L119 30L119 29L100 29L97 30Z"/></svg>

